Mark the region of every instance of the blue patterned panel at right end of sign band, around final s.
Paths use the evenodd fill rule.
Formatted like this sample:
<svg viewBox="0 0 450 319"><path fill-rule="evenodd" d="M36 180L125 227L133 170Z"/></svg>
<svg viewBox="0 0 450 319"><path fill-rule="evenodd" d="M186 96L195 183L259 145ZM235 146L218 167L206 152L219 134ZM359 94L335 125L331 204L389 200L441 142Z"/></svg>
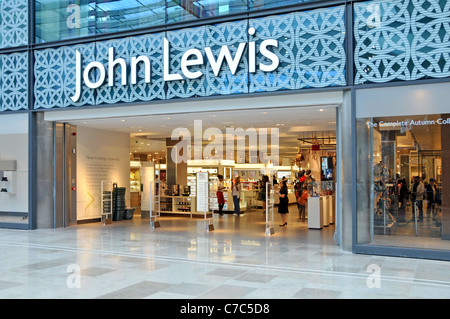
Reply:
<svg viewBox="0 0 450 319"><path fill-rule="evenodd" d="M250 75L250 92L345 85L344 12L341 6L250 20L252 40L277 39L280 59L276 71Z"/></svg>

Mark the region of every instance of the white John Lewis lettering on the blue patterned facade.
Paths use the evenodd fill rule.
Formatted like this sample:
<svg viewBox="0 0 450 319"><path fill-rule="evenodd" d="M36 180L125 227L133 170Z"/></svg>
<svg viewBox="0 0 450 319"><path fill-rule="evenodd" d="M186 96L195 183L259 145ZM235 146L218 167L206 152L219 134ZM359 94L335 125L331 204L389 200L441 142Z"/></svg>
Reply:
<svg viewBox="0 0 450 319"><path fill-rule="evenodd" d="M248 29L249 35L255 34L255 28ZM167 38L164 37L163 43L163 72L164 81L180 81L184 79L197 79L203 76L201 70L194 70L193 67L202 66L207 62L215 76L219 75L224 62L229 66L231 74L235 75L239 63L244 58L244 51L248 47L247 61L249 66L249 73L255 73L257 68L263 72L271 72L278 68L280 60L278 56L273 53L270 48L278 47L278 40L267 39L263 40L259 46L259 53L270 61L269 64L260 62L256 63L256 43L255 41L242 42L238 44L237 51L232 56L228 45L223 45L216 56L211 47L205 47L203 52L199 49L188 49L183 53L181 57L181 73L171 73L170 70L170 43ZM146 55L140 55L131 57L130 65L123 58L116 58L114 48L108 48L108 68L99 61L90 62L83 70L82 56L79 50L76 50L76 89L75 95L71 96L73 102L77 102L81 97L81 90L83 83L91 89L101 87L107 81L107 85L114 86L114 72L116 67L121 68L120 83L122 85L134 85L138 82L138 65L144 67L144 81L145 83L151 83L151 61ZM130 76L128 77L128 68L130 69ZM93 70L97 70L99 76L95 81L89 78L89 74ZM107 74L108 73L108 74Z"/></svg>

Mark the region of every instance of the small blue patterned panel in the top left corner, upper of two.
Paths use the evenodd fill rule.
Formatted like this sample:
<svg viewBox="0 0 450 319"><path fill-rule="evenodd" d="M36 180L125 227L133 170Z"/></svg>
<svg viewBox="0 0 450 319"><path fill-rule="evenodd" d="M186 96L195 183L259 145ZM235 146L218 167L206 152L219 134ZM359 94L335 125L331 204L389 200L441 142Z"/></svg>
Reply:
<svg viewBox="0 0 450 319"><path fill-rule="evenodd" d="M28 1L0 0L0 46L28 44Z"/></svg>

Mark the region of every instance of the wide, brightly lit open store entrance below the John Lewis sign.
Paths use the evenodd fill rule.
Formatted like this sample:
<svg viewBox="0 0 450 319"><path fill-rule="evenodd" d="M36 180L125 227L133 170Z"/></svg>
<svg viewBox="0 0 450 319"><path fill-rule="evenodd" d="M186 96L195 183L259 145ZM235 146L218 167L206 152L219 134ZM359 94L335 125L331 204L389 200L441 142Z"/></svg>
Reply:
<svg viewBox="0 0 450 319"><path fill-rule="evenodd" d="M318 236L326 232L332 241L338 173L335 106L71 124L77 126L80 223L147 227L155 201L149 189L158 181L160 231L203 231L207 211L215 234L265 236L267 197L262 189L269 183L275 236L298 237L321 229ZM205 176L206 192L199 187ZM306 200L298 200L303 191Z"/></svg>

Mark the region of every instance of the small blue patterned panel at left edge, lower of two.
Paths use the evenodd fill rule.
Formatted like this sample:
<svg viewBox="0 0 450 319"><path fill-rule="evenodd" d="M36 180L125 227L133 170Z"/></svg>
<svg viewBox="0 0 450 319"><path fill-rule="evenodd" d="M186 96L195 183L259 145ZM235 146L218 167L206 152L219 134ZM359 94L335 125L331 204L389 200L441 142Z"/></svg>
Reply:
<svg viewBox="0 0 450 319"><path fill-rule="evenodd" d="M1 111L28 109L28 53L3 54L1 60Z"/></svg>

